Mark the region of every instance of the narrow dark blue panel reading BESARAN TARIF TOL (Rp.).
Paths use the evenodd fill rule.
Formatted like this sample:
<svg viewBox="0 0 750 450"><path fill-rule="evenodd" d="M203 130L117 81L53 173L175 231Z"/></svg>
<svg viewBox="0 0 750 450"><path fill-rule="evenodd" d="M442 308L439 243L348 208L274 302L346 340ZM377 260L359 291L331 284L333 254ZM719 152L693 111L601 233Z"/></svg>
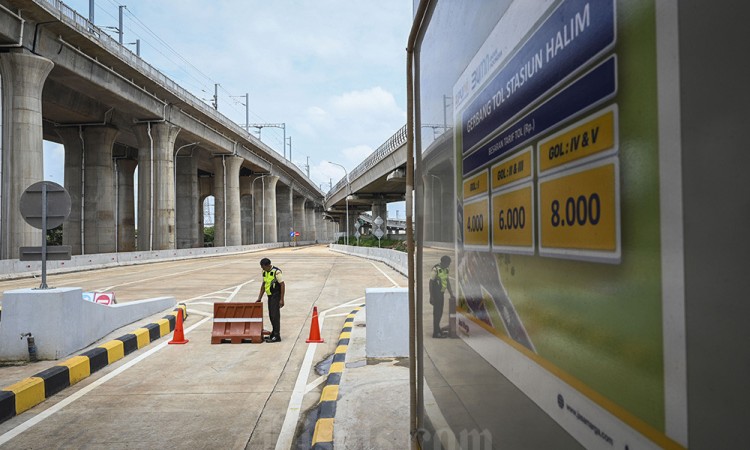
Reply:
<svg viewBox="0 0 750 450"><path fill-rule="evenodd" d="M463 175L485 167L563 120L614 97L617 93L616 76L617 59L612 55L465 157Z"/></svg>

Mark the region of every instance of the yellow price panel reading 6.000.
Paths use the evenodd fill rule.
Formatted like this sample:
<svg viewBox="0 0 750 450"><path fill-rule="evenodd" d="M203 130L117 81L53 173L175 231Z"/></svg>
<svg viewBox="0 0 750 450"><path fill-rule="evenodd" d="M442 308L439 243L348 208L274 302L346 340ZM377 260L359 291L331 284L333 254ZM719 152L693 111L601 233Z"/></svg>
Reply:
<svg viewBox="0 0 750 450"><path fill-rule="evenodd" d="M492 196L492 251L534 254L533 198L530 182Z"/></svg>

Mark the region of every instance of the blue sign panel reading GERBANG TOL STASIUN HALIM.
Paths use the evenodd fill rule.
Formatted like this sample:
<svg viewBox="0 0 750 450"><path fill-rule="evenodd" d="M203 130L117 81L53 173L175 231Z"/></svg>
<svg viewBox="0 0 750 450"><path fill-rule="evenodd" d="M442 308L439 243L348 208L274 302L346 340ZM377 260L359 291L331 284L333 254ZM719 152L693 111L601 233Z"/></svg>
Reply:
<svg viewBox="0 0 750 450"><path fill-rule="evenodd" d="M614 45L614 16L613 0L560 4L461 114L462 152Z"/></svg>

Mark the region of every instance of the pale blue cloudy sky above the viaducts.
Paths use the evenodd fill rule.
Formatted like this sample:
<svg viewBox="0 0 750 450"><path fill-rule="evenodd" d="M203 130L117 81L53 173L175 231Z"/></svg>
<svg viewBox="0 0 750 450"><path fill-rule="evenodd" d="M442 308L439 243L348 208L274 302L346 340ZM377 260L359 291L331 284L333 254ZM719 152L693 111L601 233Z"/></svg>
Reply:
<svg viewBox="0 0 750 450"><path fill-rule="evenodd" d="M65 4L89 17L89 0ZM121 4L96 0L94 23L117 27ZM310 178L324 192L344 177L326 160L351 171L406 123L411 0L124 4L126 44L140 39L146 62L209 104L219 84L219 112L240 125L248 93L250 123L285 123L293 162L305 172L309 157ZM282 136L281 129L261 130L279 153ZM45 144L45 178L60 184L62 154ZM394 207L403 218L403 202L391 214Z"/></svg>

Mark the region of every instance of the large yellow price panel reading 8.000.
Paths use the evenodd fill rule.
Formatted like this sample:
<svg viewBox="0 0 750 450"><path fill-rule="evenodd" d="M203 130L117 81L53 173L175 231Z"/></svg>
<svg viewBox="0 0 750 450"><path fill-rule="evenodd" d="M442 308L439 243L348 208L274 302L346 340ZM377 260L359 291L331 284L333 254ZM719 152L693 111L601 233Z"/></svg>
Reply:
<svg viewBox="0 0 750 450"><path fill-rule="evenodd" d="M539 254L620 261L616 157L539 180Z"/></svg>

